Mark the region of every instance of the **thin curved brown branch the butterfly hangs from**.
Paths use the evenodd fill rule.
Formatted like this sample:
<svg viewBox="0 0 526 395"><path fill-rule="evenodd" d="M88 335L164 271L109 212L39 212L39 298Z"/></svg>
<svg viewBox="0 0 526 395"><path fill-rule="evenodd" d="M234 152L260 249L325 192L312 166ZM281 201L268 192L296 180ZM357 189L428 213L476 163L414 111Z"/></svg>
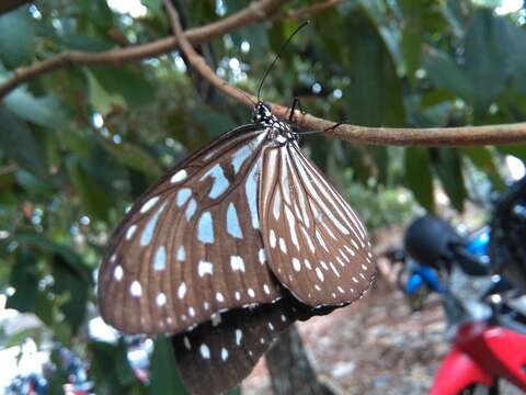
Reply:
<svg viewBox="0 0 526 395"><path fill-rule="evenodd" d="M229 86L208 67L203 57L192 47L184 34L179 15L170 0L164 0L164 7L170 15L175 40L188 63L221 92L237 102L252 108L255 98L241 89ZM273 113L283 121L288 121L290 109L270 103ZM498 145L526 142L526 123L510 125L464 126L464 127L431 127L431 128L396 128L396 127L366 127L341 124L322 120L310 114L295 112L295 126L301 129L324 132L328 136L343 140L391 146L474 146Z"/></svg>

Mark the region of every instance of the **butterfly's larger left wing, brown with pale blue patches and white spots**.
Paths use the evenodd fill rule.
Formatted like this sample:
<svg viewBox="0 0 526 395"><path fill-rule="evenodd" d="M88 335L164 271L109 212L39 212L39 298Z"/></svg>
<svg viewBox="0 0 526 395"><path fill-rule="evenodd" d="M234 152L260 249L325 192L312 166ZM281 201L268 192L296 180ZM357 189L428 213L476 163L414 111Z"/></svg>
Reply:
<svg viewBox="0 0 526 395"><path fill-rule="evenodd" d="M106 321L128 334L179 332L279 297L258 214L265 138L261 127L230 132L137 201L101 267Z"/></svg>

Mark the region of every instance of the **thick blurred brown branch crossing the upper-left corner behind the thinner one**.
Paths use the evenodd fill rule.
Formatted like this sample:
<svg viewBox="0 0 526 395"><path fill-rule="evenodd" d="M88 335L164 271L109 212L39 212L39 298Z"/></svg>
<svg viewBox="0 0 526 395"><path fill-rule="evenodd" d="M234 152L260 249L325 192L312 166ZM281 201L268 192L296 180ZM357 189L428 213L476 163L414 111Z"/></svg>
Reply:
<svg viewBox="0 0 526 395"><path fill-rule="evenodd" d="M14 0L13 0L14 1ZM245 9L210 24L188 30L185 35L193 45L199 45L236 31L250 23L266 20L282 4L281 0L260 0ZM62 67L108 65L118 66L127 61L151 58L178 49L175 37L165 37L152 43L103 52L71 50L26 67L15 69L0 84L0 100L23 82Z"/></svg>

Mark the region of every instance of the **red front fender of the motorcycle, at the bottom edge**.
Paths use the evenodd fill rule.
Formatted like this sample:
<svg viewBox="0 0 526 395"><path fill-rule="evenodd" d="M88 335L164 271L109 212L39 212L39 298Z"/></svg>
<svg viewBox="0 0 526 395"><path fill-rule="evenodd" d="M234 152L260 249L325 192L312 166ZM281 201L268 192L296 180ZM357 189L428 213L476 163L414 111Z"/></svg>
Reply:
<svg viewBox="0 0 526 395"><path fill-rule="evenodd" d="M473 384L492 385L493 377L468 354L451 348L433 381L430 395L457 395Z"/></svg>

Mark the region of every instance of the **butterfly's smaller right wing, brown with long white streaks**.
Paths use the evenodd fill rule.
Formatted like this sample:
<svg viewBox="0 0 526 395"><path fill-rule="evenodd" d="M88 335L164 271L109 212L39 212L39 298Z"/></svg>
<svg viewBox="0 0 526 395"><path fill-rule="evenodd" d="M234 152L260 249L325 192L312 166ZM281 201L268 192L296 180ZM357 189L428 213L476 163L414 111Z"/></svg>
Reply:
<svg viewBox="0 0 526 395"><path fill-rule="evenodd" d="M299 301L342 305L369 287L362 222L296 142L265 148L260 212L270 266Z"/></svg>

